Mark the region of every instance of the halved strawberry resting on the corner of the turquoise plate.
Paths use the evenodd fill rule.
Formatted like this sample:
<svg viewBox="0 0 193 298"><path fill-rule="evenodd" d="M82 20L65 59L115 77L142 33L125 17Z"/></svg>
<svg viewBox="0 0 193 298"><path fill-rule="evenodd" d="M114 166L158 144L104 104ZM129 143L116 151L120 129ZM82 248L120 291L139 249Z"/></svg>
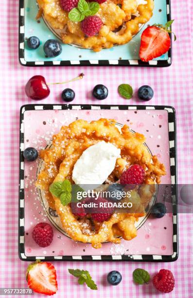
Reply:
<svg viewBox="0 0 193 298"><path fill-rule="evenodd" d="M142 61L148 62L168 52L171 47L169 33L172 33L170 26L173 21L168 21L165 26L154 24L143 31L140 43L140 59Z"/></svg>

